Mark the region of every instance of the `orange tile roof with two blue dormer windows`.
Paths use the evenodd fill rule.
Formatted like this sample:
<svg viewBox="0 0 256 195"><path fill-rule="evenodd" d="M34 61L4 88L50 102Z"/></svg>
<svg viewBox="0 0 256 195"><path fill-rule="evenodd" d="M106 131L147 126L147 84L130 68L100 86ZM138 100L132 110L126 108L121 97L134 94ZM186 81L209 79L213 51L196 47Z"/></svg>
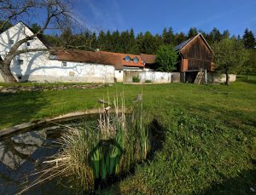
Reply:
<svg viewBox="0 0 256 195"><path fill-rule="evenodd" d="M144 67L143 59L139 54L122 54L122 53L113 53L108 51L101 51L101 53L105 54L113 54L114 56L118 56L122 60L123 66L131 66L131 67ZM131 60L129 62L125 61L125 57L129 56ZM138 62L134 62L133 59L137 57Z"/></svg>

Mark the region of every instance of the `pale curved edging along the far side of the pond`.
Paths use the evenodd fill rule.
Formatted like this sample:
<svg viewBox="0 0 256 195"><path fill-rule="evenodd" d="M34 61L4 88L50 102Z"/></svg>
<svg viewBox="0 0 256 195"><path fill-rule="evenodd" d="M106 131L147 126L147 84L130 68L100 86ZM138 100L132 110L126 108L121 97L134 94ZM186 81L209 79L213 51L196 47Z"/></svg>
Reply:
<svg viewBox="0 0 256 195"><path fill-rule="evenodd" d="M33 120L28 123L21 123L13 127L10 127L8 129L1 129L0 138L5 135L13 134L21 130L44 127L46 124L49 124L49 123L60 123L60 122L70 121L73 119L84 117L89 114L99 114L99 112L104 112L104 109L89 109L89 110L85 110L84 112L70 112L55 118L44 118L41 120ZM113 111L110 110L109 112L114 112L114 110Z"/></svg>

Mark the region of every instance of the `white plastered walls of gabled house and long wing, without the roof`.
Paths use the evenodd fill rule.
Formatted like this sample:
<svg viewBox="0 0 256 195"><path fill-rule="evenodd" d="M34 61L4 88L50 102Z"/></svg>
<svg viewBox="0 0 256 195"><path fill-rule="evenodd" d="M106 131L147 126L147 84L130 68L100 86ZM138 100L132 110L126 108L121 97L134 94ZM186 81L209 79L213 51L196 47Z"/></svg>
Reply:
<svg viewBox="0 0 256 195"><path fill-rule="evenodd" d="M4 59L5 55L14 43L31 36L32 32L23 25L18 23L12 26L6 32L0 34L0 54ZM26 43L20 45L19 49L46 49L44 43L38 38L33 39L30 46ZM20 63L20 60L23 60ZM16 79L20 82L83 82L83 83L113 83L114 67L111 65L90 64L67 61L67 66L62 66L59 60L49 60L49 52L38 51L20 54L12 60L10 70ZM3 77L0 77L3 82Z"/></svg>

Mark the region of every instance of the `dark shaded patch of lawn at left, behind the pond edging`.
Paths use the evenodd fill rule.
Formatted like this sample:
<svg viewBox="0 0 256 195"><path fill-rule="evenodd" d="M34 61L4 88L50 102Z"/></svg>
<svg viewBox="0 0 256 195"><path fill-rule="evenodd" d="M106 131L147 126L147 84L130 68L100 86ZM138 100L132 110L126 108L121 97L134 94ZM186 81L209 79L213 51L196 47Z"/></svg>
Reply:
<svg viewBox="0 0 256 195"><path fill-rule="evenodd" d="M0 93L0 102L0 129L29 122L48 104L41 92Z"/></svg>

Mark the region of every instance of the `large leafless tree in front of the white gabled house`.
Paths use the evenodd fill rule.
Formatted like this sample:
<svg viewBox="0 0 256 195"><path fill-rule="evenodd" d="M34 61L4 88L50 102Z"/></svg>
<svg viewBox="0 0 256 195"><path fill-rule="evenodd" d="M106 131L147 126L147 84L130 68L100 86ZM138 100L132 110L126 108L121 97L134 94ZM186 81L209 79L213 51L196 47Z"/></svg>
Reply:
<svg viewBox="0 0 256 195"><path fill-rule="evenodd" d="M44 20L38 32L26 35L9 49L4 59L0 59L0 73L7 83L15 83L16 79L10 71L11 61L18 54L27 52L45 51L47 49L19 49L20 45L38 37L44 30L59 29L67 20L72 18L72 0L0 0L0 32L6 29L9 23L21 21Z"/></svg>

